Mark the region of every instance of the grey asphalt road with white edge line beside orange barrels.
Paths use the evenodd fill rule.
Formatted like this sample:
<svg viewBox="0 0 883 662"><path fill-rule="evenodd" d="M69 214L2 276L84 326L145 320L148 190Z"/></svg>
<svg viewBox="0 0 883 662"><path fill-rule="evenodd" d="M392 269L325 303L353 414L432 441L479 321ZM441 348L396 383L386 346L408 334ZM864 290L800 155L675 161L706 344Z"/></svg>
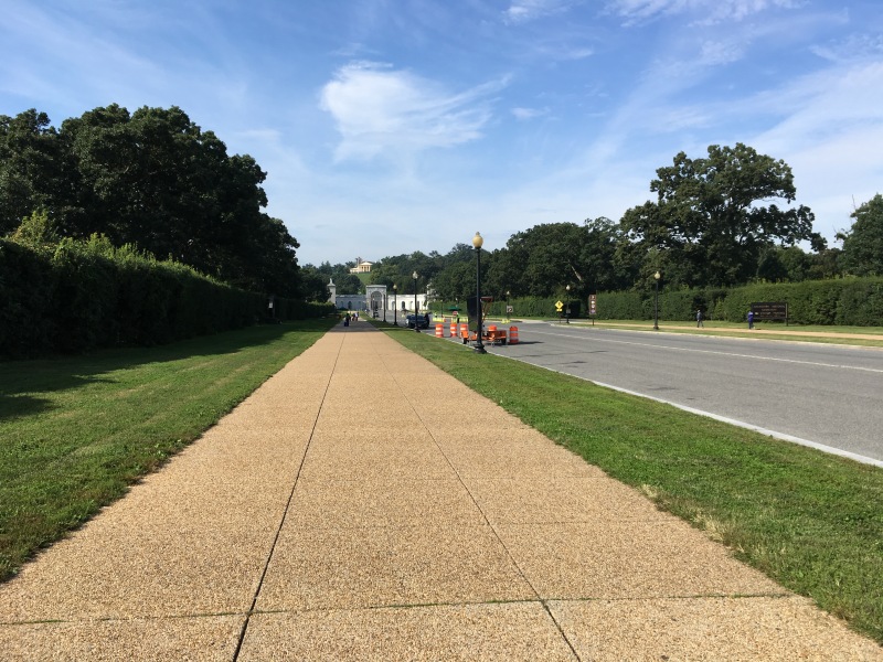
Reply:
<svg viewBox="0 0 883 662"><path fill-rule="evenodd" d="M883 350L519 324L494 354L883 466Z"/></svg>

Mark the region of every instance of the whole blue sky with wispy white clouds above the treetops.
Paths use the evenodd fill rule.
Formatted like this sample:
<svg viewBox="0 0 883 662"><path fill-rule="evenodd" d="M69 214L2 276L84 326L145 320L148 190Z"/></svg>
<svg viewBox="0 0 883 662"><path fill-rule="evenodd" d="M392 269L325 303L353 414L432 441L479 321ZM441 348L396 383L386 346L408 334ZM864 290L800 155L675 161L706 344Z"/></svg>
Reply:
<svg viewBox="0 0 883 662"><path fill-rule="evenodd" d="M301 264L618 221L681 150L883 192L880 0L0 0L0 114L180 106L268 171Z"/></svg>

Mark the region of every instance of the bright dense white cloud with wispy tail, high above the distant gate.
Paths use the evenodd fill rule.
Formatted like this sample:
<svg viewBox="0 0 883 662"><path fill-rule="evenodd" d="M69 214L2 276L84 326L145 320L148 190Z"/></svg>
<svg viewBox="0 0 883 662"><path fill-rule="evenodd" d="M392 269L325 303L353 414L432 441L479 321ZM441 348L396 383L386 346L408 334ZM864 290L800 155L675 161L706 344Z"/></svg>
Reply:
<svg viewBox="0 0 883 662"><path fill-rule="evenodd" d="M337 122L338 160L414 154L476 140L491 118L507 79L451 93L407 71L374 62L341 67L321 92L320 106Z"/></svg>

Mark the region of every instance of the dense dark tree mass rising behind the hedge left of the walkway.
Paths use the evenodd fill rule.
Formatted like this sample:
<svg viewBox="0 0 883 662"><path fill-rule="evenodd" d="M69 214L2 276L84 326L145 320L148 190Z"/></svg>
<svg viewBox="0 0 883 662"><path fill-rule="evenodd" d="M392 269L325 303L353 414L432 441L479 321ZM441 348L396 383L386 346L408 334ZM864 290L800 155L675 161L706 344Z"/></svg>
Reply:
<svg viewBox="0 0 883 662"><path fill-rule="evenodd" d="M116 104L49 126L0 116L0 233L46 210L63 236L107 236L226 282L300 296L297 241L262 210L266 173L180 108Z"/></svg>

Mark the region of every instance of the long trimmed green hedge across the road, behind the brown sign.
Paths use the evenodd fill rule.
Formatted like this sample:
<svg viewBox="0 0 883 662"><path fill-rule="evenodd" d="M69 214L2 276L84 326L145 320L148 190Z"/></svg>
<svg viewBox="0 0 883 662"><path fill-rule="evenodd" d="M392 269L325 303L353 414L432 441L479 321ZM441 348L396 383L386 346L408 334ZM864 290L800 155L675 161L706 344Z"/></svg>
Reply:
<svg viewBox="0 0 883 662"><path fill-rule="evenodd" d="M653 319L655 290L645 292L599 292L597 314L599 320ZM557 298L511 299L508 305L514 316L554 319ZM562 299L563 300L563 299ZM838 278L834 280L805 280L802 282L762 282L733 289L659 290L659 319L691 321L696 310L705 319L731 322L744 321L753 302L784 301L788 303L789 322L843 327L883 327L883 278ZM437 311L449 303L435 302ZM506 317L506 301L493 301L490 314ZM588 317L587 302L583 301L579 317Z"/></svg>

